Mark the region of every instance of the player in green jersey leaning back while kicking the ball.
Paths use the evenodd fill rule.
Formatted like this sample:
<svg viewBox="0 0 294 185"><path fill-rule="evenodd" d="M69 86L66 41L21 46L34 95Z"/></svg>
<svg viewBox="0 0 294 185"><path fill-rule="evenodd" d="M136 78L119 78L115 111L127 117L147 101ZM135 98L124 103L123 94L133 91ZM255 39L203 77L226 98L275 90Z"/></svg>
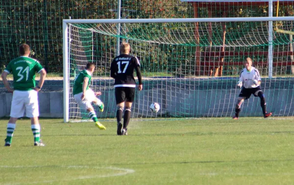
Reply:
<svg viewBox="0 0 294 185"><path fill-rule="evenodd" d="M86 69L81 71L74 79L73 84L73 97L80 108L86 110L95 122L95 125L100 130L105 130L105 126L102 125L96 116L92 102L99 107L99 111L103 112L104 104L101 102L97 95L101 95L101 92L94 93L90 88L92 73L95 70L94 63L88 63Z"/></svg>

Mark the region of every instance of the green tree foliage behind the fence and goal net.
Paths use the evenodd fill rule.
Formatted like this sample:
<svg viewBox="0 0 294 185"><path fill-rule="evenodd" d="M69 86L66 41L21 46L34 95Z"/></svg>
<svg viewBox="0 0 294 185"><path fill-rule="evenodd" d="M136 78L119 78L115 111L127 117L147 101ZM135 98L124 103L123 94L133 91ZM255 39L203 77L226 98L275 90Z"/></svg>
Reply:
<svg viewBox="0 0 294 185"><path fill-rule="evenodd" d="M241 5L221 8L221 4L216 7L199 7L198 17L208 17L208 10L211 10L212 17L266 17L268 16L268 5ZM122 0L122 18L127 19L153 19L153 18L193 18L194 7L192 3L181 2L180 0ZM18 56L18 46L21 43L27 43L31 46L32 57L41 61L49 72L62 72L62 20L63 19L116 19L117 0L1 0L0 1L0 68L6 66L10 60ZM274 7L274 10L276 6ZM283 4L279 6L279 16L293 16L293 4ZM224 16L225 14L225 16ZM273 12L276 15L276 12ZM279 23L282 29L283 23ZM238 27L238 33L230 33L230 27ZM245 23L227 24L227 34L234 37L246 37L241 30L246 27ZM176 24L165 27L164 24L149 26L149 32L160 33L161 31L170 31L182 28ZM132 30L133 33L122 35L127 39L134 33L143 33L142 26L138 25ZM157 31L157 32L156 32ZM217 38L222 28L217 27L213 30L212 42L219 42ZM255 30L260 31L260 30ZM205 33L208 34L207 32ZM204 36L205 36L204 34ZM235 34L235 35L234 35ZM241 35L243 34L243 35ZM141 34L142 39L152 39L150 35ZM114 57L116 39L109 39L102 35L97 35L95 44L100 50L95 51L95 57L99 61L107 60ZM153 35L156 37L156 34ZM284 38L285 40L288 38ZM99 42L98 42L99 41ZM100 42L102 41L102 42ZM136 55L141 57L143 70L158 69L159 71L168 70L175 74L181 73L183 66L195 66L195 43L187 45L161 45L149 43L133 42L134 46L140 45L137 50L134 48ZM203 39L200 43L202 46L209 46L207 40ZM229 43L229 39L226 41ZM190 45L190 46L189 46ZM201 48L202 51L205 47ZM214 50L215 49L215 50ZM219 49L219 48L218 48ZM212 48L212 51L218 51ZM230 50L231 48L226 48ZM239 50L248 49L253 51L266 50L267 46L239 48ZM103 53L112 53L106 57ZM243 56L242 56L243 57ZM259 56L256 56L257 58ZM179 60L180 59L180 60ZM201 58L202 60L203 58ZM228 57L226 60L242 60L241 58ZM258 60L265 60L259 57ZM279 59L283 60L283 59ZM169 64L169 65L168 65ZM98 70L106 70L101 66ZM189 69L189 74L193 75L193 68ZM235 71L234 69L227 69ZM186 73L187 71L185 71Z"/></svg>

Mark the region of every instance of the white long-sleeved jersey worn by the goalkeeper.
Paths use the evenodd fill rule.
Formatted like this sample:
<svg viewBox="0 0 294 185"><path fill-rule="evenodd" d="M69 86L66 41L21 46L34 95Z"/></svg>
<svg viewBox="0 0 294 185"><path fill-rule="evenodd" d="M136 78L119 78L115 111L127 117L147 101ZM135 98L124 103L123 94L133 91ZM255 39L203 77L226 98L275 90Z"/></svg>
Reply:
<svg viewBox="0 0 294 185"><path fill-rule="evenodd" d="M239 81L241 81L244 84L244 87L246 89L256 88L259 86L259 85L255 85L253 83L253 80L257 80L257 81L261 80L259 71L254 67L251 67L250 71L248 71L246 68L242 69L242 71L240 72Z"/></svg>

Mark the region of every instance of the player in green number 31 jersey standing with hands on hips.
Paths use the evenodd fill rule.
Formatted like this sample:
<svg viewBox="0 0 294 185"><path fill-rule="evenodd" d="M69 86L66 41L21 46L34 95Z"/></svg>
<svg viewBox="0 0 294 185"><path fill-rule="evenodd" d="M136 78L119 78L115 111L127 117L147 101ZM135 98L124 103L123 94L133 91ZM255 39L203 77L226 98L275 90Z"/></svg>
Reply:
<svg viewBox="0 0 294 185"><path fill-rule="evenodd" d="M22 44L19 47L19 54L21 56L12 60L1 74L4 87L8 92L13 93L4 146L11 145L16 121L23 116L27 116L31 120L34 146L45 146L43 142L40 142L38 92L44 84L47 73L37 60L29 57L30 47L28 45ZM36 72L40 73L38 86L35 81ZM10 73L13 74L13 89L7 81L7 75Z"/></svg>

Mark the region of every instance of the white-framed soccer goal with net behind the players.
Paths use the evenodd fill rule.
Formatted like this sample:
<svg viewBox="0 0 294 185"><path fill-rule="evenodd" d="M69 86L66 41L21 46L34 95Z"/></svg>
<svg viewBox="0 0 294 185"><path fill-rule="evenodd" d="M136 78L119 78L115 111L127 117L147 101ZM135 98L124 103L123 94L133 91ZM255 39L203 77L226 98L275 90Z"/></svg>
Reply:
<svg viewBox="0 0 294 185"><path fill-rule="evenodd" d="M273 116L293 116L294 17L63 20L64 120L88 119L74 102L74 77L88 62L97 66L92 89L101 91L100 118L116 115L110 64L121 42L140 59L143 91L133 118L233 116L236 86L247 57L262 75ZM157 113L149 111L160 104ZM261 116L259 98L246 100L240 116Z"/></svg>

